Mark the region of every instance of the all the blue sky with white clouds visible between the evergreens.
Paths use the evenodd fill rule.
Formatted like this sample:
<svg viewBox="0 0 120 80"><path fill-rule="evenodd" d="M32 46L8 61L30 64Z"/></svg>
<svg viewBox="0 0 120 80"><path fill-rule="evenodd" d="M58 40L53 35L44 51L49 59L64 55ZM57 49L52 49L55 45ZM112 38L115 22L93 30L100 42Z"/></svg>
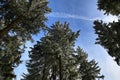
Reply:
<svg viewBox="0 0 120 80"><path fill-rule="evenodd" d="M56 21L62 23L69 22L70 28L73 31L81 30L80 36L76 41L76 46L80 46L85 52L88 53L89 59L95 59L101 68L101 74L105 75L104 80L119 80L120 67L114 60L107 54L106 50L100 45L96 45L95 39L97 35L94 33L93 21L96 19L105 22L117 21L114 16L105 16L103 12L97 10L97 0L50 0L49 7L52 13L48 14L48 21L46 24L51 26ZM39 40L43 34L40 33L34 36ZM32 46L30 42L26 43L27 46ZM16 68L15 73L18 75L17 80L20 80L21 74L27 72L25 61L28 60L27 51L22 56L23 63Z"/></svg>

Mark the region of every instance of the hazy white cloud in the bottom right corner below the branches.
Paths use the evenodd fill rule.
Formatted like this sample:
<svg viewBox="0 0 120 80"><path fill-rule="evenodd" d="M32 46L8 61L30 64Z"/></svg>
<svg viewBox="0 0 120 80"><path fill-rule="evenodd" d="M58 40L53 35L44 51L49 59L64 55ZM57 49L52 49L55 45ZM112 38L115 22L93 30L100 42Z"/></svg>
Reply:
<svg viewBox="0 0 120 80"><path fill-rule="evenodd" d="M120 80L120 66L116 64L116 62L110 56L106 57L104 72L107 76L105 76L105 80ZM109 76L108 76L109 75Z"/></svg>

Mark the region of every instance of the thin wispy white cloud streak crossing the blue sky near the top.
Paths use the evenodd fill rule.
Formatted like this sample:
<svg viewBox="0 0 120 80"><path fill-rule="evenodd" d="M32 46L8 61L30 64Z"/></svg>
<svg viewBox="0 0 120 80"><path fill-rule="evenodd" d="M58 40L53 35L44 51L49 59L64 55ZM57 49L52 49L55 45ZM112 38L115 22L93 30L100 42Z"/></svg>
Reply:
<svg viewBox="0 0 120 80"><path fill-rule="evenodd" d="M52 13L48 14L47 16L57 17L57 18L80 19L80 20L87 20L87 21L103 20L105 22L112 22L112 21L118 20L118 18L116 16L112 16L112 15L109 15L109 16L103 15L102 17L98 16L98 17L89 18L89 17L85 17L85 16L69 14L69 13L64 13L64 12L52 12Z"/></svg>

